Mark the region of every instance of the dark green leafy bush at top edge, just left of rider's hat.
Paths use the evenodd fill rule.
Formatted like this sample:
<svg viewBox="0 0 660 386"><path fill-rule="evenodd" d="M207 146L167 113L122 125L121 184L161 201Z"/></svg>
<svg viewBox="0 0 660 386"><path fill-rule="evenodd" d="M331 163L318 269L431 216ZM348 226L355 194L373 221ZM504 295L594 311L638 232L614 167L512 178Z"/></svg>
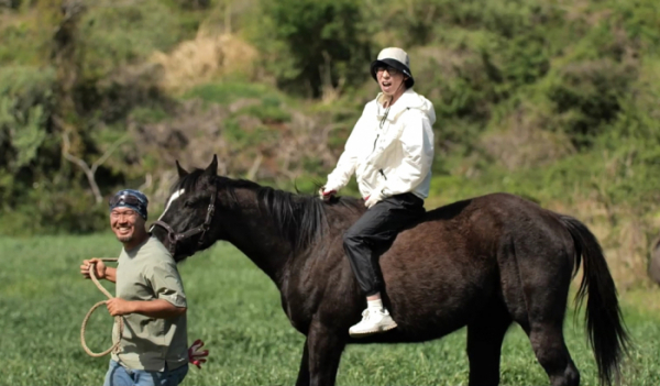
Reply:
<svg viewBox="0 0 660 386"><path fill-rule="evenodd" d="M318 98L354 85L372 59L361 8L351 0L262 1L253 40L278 85Z"/></svg>

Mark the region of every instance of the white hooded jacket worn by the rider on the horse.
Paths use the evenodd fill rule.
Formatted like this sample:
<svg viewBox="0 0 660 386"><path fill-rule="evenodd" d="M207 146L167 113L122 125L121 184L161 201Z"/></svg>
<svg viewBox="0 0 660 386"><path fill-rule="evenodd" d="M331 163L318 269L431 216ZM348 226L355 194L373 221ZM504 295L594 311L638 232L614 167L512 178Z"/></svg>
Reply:
<svg viewBox="0 0 660 386"><path fill-rule="evenodd" d="M433 104L407 89L386 114L385 100L381 92L364 107L337 167L328 175L326 191L339 191L355 173L362 197L378 190L385 197L409 191L421 199L429 196Z"/></svg>

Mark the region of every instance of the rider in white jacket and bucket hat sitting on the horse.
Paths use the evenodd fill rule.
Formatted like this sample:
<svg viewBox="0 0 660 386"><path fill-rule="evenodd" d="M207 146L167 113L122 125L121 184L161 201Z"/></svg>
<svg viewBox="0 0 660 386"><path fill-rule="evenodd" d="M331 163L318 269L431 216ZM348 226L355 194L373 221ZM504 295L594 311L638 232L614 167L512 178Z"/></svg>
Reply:
<svg viewBox="0 0 660 386"><path fill-rule="evenodd" d="M353 337L385 332L397 327L383 306L383 279L377 257L398 232L425 213L433 161L433 104L413 90L408 54L402 48L381 51L371 64L381 91L366 103L345 148L320 190L330 199L353 173L366 212L344 233L343 245L367 308Z"/></svg>

